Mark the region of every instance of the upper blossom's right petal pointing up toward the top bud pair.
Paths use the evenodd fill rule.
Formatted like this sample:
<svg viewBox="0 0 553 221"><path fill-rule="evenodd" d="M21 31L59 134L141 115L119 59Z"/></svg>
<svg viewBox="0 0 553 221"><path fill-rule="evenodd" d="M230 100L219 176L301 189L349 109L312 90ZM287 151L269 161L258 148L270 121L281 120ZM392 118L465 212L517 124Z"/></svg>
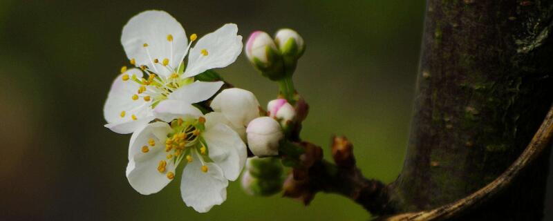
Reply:
<svg viewBox="0 0 553 221"><path fill-rule="evenodd" d="M213 68L223 68L236 61L242 52L242 36L236 35L237 32L236 24L227 23L199 39L194 48L190 49L185 77L196 76Z"/></svg>

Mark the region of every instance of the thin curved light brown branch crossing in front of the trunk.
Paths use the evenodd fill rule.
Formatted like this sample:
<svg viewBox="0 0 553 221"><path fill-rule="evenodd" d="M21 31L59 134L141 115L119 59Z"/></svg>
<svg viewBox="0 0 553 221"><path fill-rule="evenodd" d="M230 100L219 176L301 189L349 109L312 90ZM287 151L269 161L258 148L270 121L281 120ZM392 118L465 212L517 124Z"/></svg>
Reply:
<svg viewBox="0 0 553 221"><path fill-rule="evenodd" d="M509 169L502 175L496 178L493 182L487 184L482 189L472 193L466 198L462 198L451 204L440 206L436 209L429 211L420 211L416 213L403 213L399 215L393 215L391 217L382 218L380 220L449 220L451 218L458 218L459 215L464 214L470 209L476 208L476 206L484 204L493 199L498 193L507 189L519 175L532 165L532 163L544 152L545 149L550 148L551 138L553 136L553 106L543 120L540 128L532 138L532 141L528 144L525 151L520 157L511 165Z"/></svg>

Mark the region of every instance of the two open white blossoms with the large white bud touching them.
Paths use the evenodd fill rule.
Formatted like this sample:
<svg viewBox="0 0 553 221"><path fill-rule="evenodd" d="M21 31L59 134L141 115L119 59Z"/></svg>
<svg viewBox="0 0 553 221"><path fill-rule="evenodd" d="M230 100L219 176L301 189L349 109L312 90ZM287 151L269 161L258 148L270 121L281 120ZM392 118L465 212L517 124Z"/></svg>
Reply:
<svg viewBox="0 0 553 221"><path fill-rule="evenodd" d="M245 129L259 117L259 102L238 88L218 93L223 81L195 76L236 60L243 47L237 32L229 23L199 39L187 37L176 19L157 10L124 26L121 43L134 68L121 68L104 117L112 131L132 133L126 177L139 193L157 193L183 165L180 191L187 206L206 212L225 201L229 180L245 165ZM204 115L196 104L212 97L214 112Z"/></svg>

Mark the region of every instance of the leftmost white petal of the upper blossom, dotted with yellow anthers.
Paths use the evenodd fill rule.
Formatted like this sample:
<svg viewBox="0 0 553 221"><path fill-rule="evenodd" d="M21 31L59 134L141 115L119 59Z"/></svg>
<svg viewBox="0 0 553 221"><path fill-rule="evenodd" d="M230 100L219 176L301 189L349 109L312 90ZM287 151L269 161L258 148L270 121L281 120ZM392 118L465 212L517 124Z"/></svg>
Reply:
<svg viewBox="0 0 553 221"><path fill-rule="evenodd" d="M144 126L151 120L152 110L149 107L151 102L144 102L142 99L133 100L132 97L137 93L140 85L130 79L123 81L123 75L142 77L142 71L133 68L115 78L104 104L104 118L108 122L106 127L112 131L133 133L136 128Z"/></svg>

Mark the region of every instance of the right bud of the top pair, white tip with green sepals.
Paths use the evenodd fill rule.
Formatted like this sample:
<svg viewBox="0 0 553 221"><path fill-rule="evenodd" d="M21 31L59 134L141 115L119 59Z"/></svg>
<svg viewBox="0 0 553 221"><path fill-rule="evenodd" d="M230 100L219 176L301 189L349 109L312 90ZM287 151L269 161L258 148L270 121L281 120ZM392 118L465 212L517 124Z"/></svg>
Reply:
<svg viewBox="0 0 553 221"><path fill-rule="evenodd" d="M291 59L299 59L306 50L306 45L303 43L303 38L290 28L283 28L274 36L274 41L277 43L279 50L284 57Z"/></svg>

